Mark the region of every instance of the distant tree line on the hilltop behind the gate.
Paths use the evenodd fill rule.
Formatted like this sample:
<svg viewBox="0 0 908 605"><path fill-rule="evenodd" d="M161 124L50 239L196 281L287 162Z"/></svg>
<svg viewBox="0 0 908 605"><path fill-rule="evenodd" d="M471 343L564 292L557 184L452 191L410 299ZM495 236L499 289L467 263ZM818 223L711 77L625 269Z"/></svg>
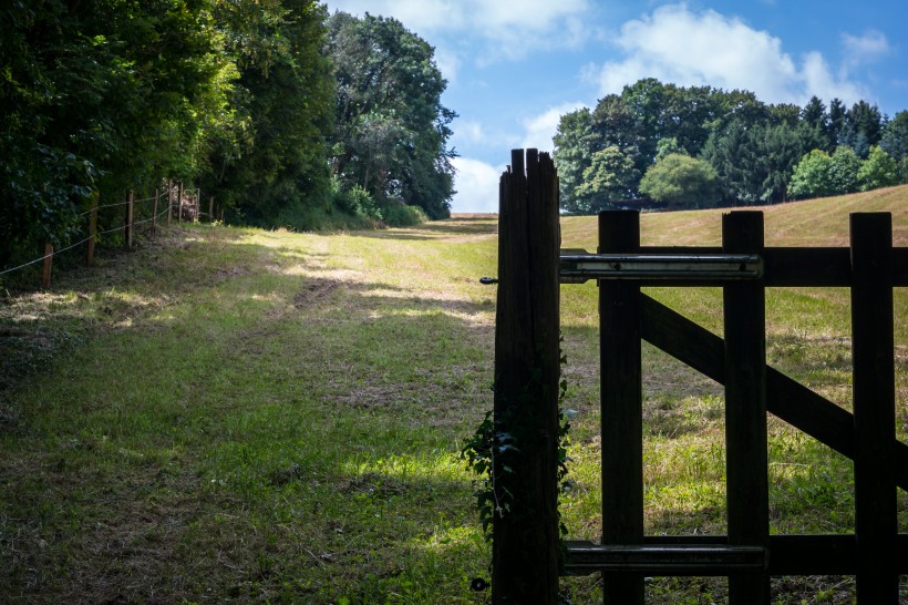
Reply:
<svg viewBox="0 0 908 605"><path fill-rule="evenodd" d="M580 214L628 199L775 204L908 182L908 111L889 119L866 101L766 104L644 79L561 115L554 143L561 207Z"/></svg>

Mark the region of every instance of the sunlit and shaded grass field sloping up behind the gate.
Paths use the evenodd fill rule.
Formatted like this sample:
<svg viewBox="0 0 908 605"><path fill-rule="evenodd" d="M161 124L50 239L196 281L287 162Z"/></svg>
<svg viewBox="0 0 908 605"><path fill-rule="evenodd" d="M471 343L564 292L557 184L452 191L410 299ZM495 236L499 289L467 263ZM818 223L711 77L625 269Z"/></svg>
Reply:
<svg viewBox="0 0 908 605"><path fill-rule="evenodd" d="M847 245L908 187L765 208L768 245ZM644 244L716 244L721 212L648 214ZM596 221L563 221L592 249ZM44 293L0 294L0 602L485 603L489 552L457 459L492 407L496 221L332 235L173 227ZM715 289L650 294L720 332ZM592 284L563 287L575 539L599 533ZM771 363L849 407L846 289L772 289ZM896 294L899 438L908 293ZM722 389L644 346L651 534L724 533ZM850 462L770 420L772 531L849 532ZM899 492L900 531L908 498ZM564 581L601 603L594 576ZM723 603L656 578L651 603ZM902 582L908 599L908 581ZM774 578L782 604L849 577Z"/></svg>

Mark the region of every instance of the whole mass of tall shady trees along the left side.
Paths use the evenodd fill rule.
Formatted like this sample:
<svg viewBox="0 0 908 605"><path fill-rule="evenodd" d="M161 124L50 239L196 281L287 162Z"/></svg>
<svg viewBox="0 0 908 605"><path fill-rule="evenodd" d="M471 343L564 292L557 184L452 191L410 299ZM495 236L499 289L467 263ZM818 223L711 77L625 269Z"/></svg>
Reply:
<svg viewBox="0 0 908 605"><path fill-rule="evenodd" d="M0 8L0 268L81 235L93 193L161 178L228 221L319 228L448 215L434 49L313 0Z"/></svg>

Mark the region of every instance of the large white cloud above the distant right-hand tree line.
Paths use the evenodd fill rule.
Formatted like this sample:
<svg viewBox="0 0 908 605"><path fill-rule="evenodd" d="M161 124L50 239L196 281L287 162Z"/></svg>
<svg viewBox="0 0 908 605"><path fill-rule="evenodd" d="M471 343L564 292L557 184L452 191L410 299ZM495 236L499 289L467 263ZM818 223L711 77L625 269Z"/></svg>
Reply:
<svg viewBox="0 0 908 605"><path fill-rule="evenodd" d="M865 47L873 48L874 38L864 40ZM768 103L803 104L814 94L853 102L864 92L847 78L833 75L819 53L806 54L798 65L768 32L714 10L690 10L683 3L625 23L616 43L623 59L609 61L595 72L601 94L620 93L641 78L749 90ZM588 76L590 72L587 70Z"/></svg>

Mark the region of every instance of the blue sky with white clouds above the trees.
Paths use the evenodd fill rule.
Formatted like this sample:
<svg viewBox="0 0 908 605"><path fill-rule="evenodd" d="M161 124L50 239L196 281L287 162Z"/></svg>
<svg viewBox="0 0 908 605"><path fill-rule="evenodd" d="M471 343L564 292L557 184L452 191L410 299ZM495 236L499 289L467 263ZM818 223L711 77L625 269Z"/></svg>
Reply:
<svg viewBox="0 0 908 605"><path fill-rule="evenodd" d="M329 0L391 17L435 48L458 117L452 212L497 212L510 150L553 150L561 114L626 84L749 90L803 106L816 95L908 109L906 0Z"/></svg>

